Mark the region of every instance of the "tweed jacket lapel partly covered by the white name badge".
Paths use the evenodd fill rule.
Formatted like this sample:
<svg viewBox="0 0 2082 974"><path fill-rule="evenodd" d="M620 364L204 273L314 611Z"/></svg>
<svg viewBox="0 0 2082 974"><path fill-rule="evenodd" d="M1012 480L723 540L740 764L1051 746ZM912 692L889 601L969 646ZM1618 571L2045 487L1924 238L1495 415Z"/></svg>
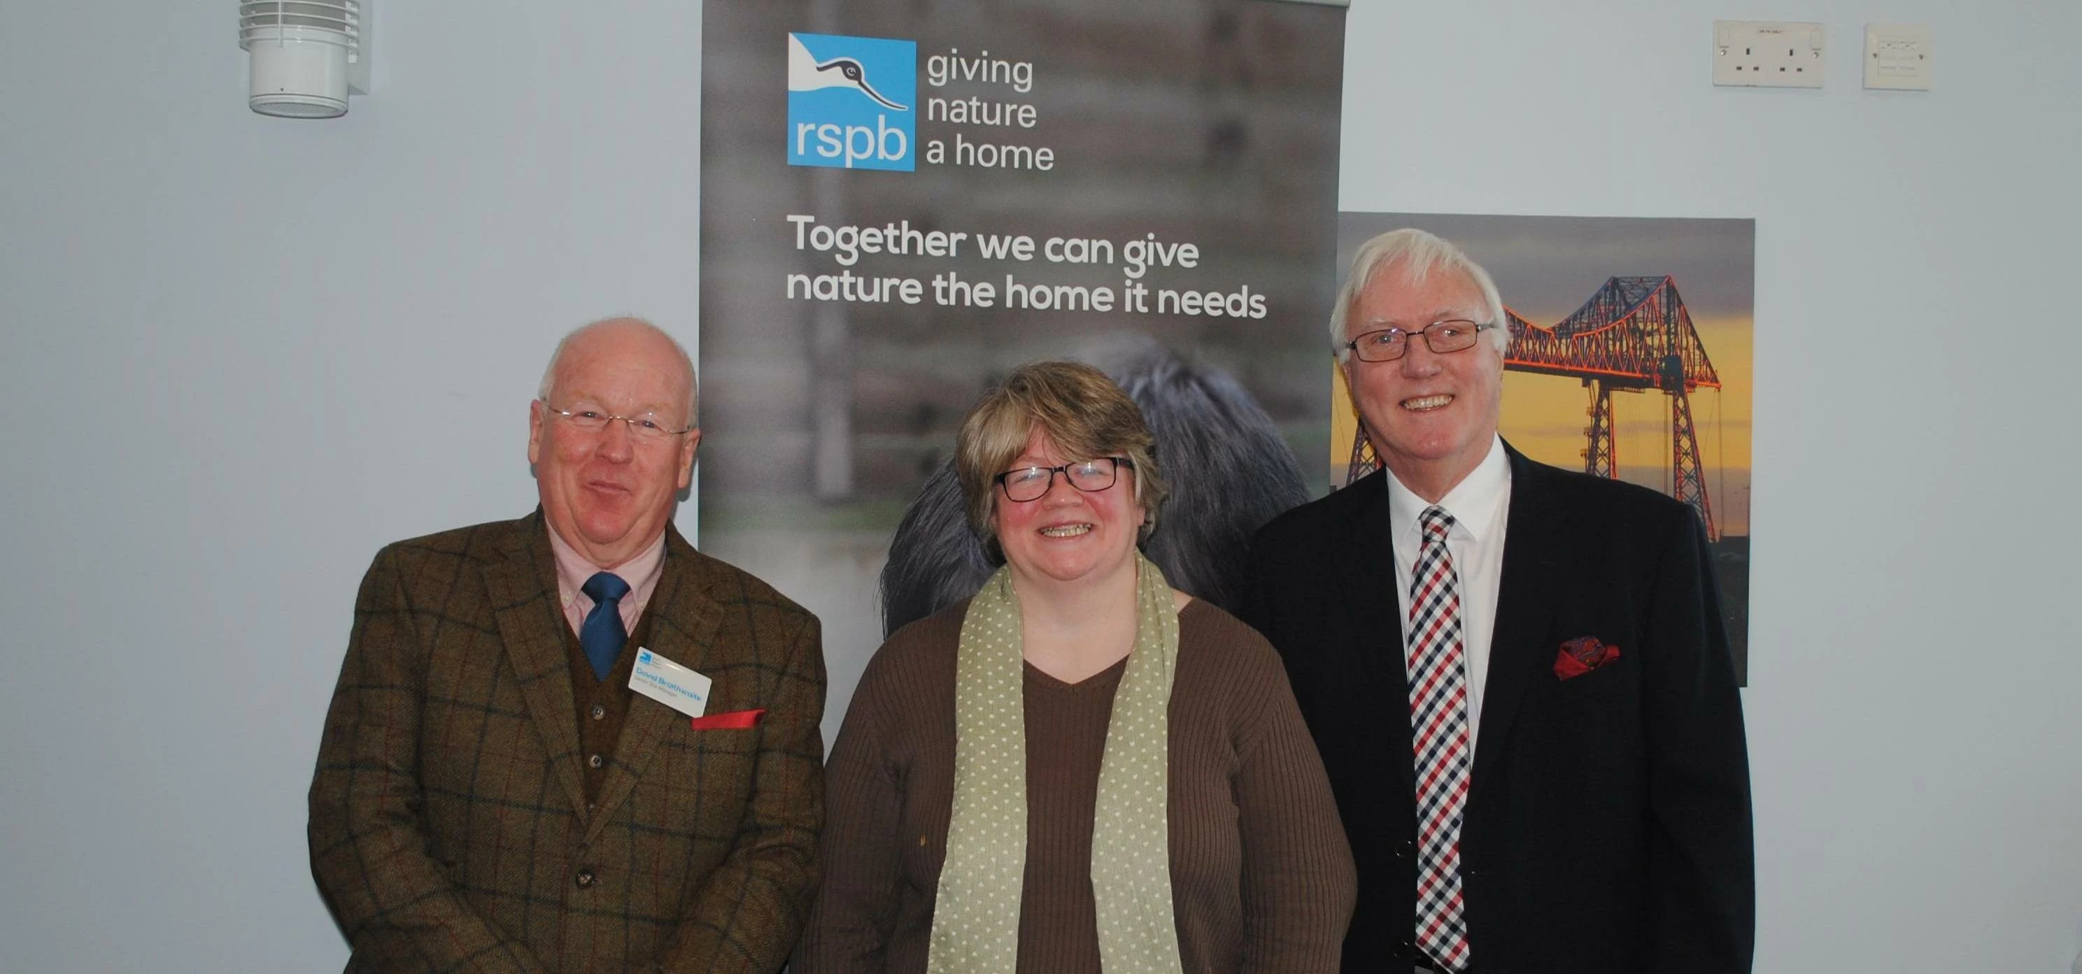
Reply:
<svg viewBox="0 0 2082 974"><path fill-rule="evenodd" d="M710 645L722 622L722 608L702 591L700 566L695 562L693 545L679 535L679 529L666 524L664 572L658 576L658 589L652 591L652 599L643 606L643 616L650 624L650 645L645 649L706 676L716 676L716 660L712 660ZM564 693L568 699L570 691L566 689ZM643 778L643 772L658 755L660 741L672 735L675 726L683 720L689 720L687 714L631 691L623 737L614 743L614 762L600 785L600 812L585 828L587 841L600 837L614 808L629 799L629 793L635 791L637 780ZM577 770L577 764L573 764L573 770Z"/></svg>

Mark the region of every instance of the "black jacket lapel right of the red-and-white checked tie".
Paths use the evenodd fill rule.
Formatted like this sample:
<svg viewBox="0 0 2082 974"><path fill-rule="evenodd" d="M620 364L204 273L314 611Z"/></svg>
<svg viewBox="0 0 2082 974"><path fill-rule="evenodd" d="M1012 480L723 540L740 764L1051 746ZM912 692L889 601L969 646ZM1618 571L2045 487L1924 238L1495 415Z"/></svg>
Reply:
<svg viewBox="0 0 2082 974"><path fill-rule="evenodd" d="M1468 801L1489 789L1497 762L1509 747L1512 724L1526 689L1553 666L1555 647L1545 635L1568 572L1568 549L1559 543L1566 506L1555 497L1545 466L1526 460L1509 443L1512 506L1503 533L1503 579L1497 585L1497 629L1489 641L1489 676L1482 683L1482 730L1474 743L1474 774Z"/></svg>

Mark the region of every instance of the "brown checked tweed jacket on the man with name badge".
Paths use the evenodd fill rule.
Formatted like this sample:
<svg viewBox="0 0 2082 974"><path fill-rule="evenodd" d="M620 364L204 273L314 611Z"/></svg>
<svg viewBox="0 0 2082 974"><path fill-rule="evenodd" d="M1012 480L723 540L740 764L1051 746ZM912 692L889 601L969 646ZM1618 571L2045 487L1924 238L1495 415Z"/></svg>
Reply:
<svg viewBox="0 0 2082 974"><path fill-rule="evenodd" d="M635 695L598 808L541 512L377 554L310 783L348 972L772 972L816 893L816 616L666 527L648 647L714 678L693 730Z"/></svg>

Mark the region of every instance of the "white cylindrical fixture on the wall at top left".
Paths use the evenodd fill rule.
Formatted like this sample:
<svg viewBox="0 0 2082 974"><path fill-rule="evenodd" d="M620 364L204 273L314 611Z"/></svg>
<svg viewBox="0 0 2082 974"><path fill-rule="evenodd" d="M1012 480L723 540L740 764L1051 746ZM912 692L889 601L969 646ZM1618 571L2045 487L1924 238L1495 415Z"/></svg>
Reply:
<svg viewBox="0 0 2082 974"><path fill-rule="evenodd" d="M242 0L239 48L252 110L337 119L348 94L369 94L369 0Z"/></svg>

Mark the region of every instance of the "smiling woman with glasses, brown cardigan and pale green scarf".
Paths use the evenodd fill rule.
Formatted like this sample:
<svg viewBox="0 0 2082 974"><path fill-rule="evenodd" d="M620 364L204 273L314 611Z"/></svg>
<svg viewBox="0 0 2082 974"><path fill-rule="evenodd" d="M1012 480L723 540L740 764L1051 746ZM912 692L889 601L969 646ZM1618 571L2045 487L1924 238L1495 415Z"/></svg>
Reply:
<svg viewBox="0 0 2082 974"><path fill-rule="evenodd" d="M970 410L956 475L1001 566L868 662L793 970L1339 968L1330 785L1272 647L1141 556L1151 447L1083 364L1022 366Z"/></svg>

